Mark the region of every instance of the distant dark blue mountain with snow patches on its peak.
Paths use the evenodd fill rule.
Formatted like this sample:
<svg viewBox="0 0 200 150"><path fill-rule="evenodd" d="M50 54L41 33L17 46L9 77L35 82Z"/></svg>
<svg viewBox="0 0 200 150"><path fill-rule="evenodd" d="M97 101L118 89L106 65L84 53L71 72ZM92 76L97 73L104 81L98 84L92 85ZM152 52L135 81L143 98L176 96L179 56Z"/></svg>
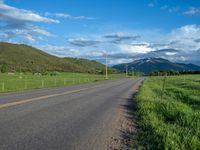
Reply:
<svg viewBox="0 0 200 150"><path fill-rule="evenodd" d="M128 71L139 71L149 74L153 71L167 71L167 70L200 70L200 66L193 64L173 63L162 58L145 58L133 61L128 64L119 64L113 66L113 68L125 71L126 65Z"/></svg>

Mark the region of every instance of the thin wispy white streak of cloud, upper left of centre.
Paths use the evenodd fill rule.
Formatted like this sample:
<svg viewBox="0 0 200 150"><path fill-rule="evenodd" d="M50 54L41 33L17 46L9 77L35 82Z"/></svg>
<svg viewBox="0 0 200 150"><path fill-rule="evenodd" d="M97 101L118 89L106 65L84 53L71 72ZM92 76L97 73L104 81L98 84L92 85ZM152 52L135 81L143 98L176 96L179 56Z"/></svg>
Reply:
<svg viewBox="0 0 200 150"><path fill-rule="evenodd" d="M86 17L86 16L72 16L66 13L50 13L46 12L45 16L56 17L56 18L65 18L65 19L72 19L72 20L94 20L93 17Z"/></svg>

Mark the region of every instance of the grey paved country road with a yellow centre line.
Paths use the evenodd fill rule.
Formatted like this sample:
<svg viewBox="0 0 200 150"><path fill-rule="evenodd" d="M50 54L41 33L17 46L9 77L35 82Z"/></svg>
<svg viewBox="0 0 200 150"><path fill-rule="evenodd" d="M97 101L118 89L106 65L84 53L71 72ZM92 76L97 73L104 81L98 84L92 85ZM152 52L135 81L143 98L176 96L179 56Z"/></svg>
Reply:
<svg viewBox="0 0 200 150"><path fill-rule="evenodd" d="M0 95L0 150L106 149L142 78Z"/></svg>

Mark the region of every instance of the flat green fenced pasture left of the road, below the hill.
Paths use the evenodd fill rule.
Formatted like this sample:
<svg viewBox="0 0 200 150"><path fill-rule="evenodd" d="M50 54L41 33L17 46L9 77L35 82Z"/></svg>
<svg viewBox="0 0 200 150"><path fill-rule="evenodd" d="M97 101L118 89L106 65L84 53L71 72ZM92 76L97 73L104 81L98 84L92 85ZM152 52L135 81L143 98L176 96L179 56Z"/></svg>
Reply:
<svg viewBox="0 0 200 150"><path fill-rule="evenodd" d="M109 79L124 78L124 74L109 75ZM57 73L56 75L33 75L31 73L0 74L0 92L22 91L59 87L105 80L103 75L84 73Z"/></svg>

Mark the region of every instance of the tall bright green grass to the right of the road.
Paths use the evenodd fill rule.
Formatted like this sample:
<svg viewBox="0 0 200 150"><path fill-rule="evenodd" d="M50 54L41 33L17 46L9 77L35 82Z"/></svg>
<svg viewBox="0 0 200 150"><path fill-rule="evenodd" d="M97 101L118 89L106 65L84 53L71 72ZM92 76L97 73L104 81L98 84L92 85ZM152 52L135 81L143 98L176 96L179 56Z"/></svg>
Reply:
<svg viewBox="0 0 200 150"><path fill-rule="evenodd" d="M200 149L200 75L149 77L137 96L141 149Z"/></svg>

